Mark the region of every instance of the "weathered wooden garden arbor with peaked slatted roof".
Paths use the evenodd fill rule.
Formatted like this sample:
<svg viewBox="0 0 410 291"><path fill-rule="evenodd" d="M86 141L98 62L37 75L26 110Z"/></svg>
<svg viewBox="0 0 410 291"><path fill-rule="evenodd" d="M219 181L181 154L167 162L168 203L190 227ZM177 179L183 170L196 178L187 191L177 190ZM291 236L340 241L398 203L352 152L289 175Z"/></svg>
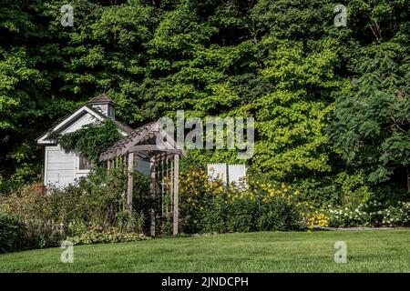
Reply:
<svg viewBox="0 0 410 291"><path fill-rule="evenodd" d="M163 197L165 193L169 193L173 216L172 233L176 235L179 232L179 156L185 156L185 153L175 146L173 136L167 135L164 131L161 131L159 135L159 125L153 122L133 130L114 146L109 147L99 156L99 159L107 161L108 168L118 166L118 162L127 165L127 206L130 212L132 211L135 162L149 162L150 196L155 199L161 195L161 216L164 216L169 213L169 209L164 206ZM157 183L160 184L160 191L157 189ZM149 213L150 235L155 236L157 218L155 208L151 207Z"/></svg>

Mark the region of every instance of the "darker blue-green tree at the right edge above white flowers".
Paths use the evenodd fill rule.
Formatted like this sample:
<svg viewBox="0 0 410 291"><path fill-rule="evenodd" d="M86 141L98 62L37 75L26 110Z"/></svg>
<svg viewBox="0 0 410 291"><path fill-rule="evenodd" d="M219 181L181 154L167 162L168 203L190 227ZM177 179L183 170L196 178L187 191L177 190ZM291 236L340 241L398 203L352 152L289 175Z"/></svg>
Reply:
<svg viewBox="0 0 410 291"><path fill-rule="evenodd" d="M337 99L334 150L347 165L365 168L371 182L384 182L400 172L408 179L408 73L387 55L364 61L362 70L362 75L347 85L347 94Z"/></svg>

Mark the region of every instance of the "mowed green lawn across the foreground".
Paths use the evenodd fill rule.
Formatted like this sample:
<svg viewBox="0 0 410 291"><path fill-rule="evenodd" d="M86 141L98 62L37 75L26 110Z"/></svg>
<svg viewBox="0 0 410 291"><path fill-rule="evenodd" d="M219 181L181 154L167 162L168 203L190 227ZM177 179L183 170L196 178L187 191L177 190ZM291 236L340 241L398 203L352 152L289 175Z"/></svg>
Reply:
<svg viewBox="0 0 410 291"><path fill-rule="evenodd" d="M336 264L334 243L347 245ZM0 272L410 272L410 230L260 232L159 238L0 255Z"/></svg>

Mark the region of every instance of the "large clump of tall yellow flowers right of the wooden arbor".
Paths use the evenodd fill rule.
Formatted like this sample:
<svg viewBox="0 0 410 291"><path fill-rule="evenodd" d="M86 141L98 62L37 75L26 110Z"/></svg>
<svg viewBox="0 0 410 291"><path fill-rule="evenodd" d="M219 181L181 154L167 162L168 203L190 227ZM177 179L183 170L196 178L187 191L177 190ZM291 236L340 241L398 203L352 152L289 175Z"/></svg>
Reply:
<svg viewBox="0 0 410 291"><path fill-rule="evenodd" d="M321 225L327 217L282 184L249 180L223 185L199 169L180 178L181 225L185 232L290 230Z"/></svg>

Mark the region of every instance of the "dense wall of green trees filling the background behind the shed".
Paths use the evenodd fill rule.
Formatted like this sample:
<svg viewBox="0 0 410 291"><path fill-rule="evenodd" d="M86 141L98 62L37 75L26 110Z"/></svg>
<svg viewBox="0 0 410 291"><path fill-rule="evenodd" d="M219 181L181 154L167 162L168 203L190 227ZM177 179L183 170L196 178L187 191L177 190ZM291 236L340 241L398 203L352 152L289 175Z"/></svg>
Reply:
<svg viewBox="0 0 410 291"><path fill-rule="evenodd" d="M36 137L108 86L133 126L178 109L254 116L249 165L268 179L317 195L359 172L405 187L410 1L341 1L341 27L330 0L73 0L73 27L60 24L65 4L0 6L3 180L40 165Z"/></svg>

